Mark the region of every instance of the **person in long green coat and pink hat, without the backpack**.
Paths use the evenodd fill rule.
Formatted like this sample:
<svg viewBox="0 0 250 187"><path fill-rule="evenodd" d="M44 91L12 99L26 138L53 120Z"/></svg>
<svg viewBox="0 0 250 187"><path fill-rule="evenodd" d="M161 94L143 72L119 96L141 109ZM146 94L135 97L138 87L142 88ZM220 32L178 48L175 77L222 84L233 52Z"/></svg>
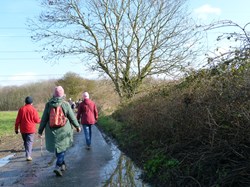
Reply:
<svg viewBox="0 0 250 187"><path fill-rule="evenodd" d="M50 109L61 105L65 116L68 118L65 126L51 128L49 124ZM40 137L45 129L45 144L49 152L54 152L57 158L54 173L62 176L62 171L66 170L64 155L66 150L73 144L73 128L81 132L80 125L75 117L73 110L68 102L64 100L64 89L61 86L55 87L53 97L46 103L43 111L42 120L38 129Z"/></svg>

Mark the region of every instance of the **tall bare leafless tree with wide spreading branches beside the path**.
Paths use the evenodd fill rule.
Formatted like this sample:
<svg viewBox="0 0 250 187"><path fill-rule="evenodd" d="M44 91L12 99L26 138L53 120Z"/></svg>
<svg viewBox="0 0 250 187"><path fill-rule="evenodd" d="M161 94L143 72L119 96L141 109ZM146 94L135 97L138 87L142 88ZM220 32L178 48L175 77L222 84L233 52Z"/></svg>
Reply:
<svg viewBox="0 0 250 187"><path fill-rule="evenodd" d="M79 55L108 76L121 98L145 77L170 75L192 62L199 32L185 0L43 0L29 26L47 59Z"/></svg>

